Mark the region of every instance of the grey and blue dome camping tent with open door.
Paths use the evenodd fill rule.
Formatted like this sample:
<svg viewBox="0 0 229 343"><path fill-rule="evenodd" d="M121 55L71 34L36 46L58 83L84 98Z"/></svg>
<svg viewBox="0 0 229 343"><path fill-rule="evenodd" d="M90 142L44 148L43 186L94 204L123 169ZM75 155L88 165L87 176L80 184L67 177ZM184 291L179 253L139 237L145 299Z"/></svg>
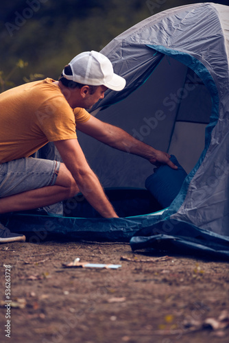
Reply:
<svg viewBox="0 0 229 343"><path fill-rule="evenodd" d="M69 217L49 216L52 232L115 240L134 235L133 249L182 246L229 256L228 18L225 5L184 5L145 19L101 50L127 85L121 92L106 91L91 114L175 155L188 176L162 209L144 186L152 165L77 132L122 218L105 220L88 209L85 218L83 201L76 206L71 200ZM9 225L15 220L24 230L44 226L42 215L16 214Z"/></svg>

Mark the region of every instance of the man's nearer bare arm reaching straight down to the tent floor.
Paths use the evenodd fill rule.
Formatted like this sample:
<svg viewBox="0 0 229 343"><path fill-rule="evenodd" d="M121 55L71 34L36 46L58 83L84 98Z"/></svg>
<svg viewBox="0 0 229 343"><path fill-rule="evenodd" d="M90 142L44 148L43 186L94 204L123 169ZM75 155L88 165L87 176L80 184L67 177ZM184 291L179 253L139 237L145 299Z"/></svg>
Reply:
<svg viewBox="0 0 229 343"><path fill-rule="evenodd" d="M99 179L89 167L77 139L54 142L67 169L86 200L103 217L118 217L110 204Z"/></svg>

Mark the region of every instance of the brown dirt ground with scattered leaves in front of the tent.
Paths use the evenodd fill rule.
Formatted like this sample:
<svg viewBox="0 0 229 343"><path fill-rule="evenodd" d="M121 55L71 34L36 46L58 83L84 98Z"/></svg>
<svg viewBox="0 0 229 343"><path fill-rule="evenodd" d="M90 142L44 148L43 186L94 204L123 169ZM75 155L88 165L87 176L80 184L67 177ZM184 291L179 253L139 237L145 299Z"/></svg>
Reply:
<svg viewBox="0 0 229 343"><path fill-rule="evenodd" d="M1 244L0 255L2 343L228 342L226 262L60 239ZM64 268L77 257L121 267Z"/></svg>

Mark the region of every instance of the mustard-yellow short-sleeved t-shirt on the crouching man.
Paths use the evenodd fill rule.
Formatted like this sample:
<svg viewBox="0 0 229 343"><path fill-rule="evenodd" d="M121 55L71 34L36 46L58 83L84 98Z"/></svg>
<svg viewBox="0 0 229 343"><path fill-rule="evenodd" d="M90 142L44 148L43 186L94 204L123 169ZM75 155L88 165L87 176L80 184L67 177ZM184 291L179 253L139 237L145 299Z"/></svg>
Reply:
<svg viewBox="0 0 229 343"><path fill-rule="evenodd" d="M76 138L91 115L71 108L54 80L29 82L0 94L0 163L27 157L49 141Z"/></svg>

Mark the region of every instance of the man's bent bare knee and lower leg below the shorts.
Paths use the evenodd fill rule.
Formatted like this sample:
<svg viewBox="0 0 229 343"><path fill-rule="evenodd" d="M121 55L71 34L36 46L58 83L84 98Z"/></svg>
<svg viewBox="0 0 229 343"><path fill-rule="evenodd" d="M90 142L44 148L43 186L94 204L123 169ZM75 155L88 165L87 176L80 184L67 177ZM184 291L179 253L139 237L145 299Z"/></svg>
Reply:
<svg viewBox="0 0 229 343"><path fill-rule="evenodd" d="M37 209L55 204L72 198L79 191L71 172L61 163L55 185L0 198L0 213Z"/></svg>

